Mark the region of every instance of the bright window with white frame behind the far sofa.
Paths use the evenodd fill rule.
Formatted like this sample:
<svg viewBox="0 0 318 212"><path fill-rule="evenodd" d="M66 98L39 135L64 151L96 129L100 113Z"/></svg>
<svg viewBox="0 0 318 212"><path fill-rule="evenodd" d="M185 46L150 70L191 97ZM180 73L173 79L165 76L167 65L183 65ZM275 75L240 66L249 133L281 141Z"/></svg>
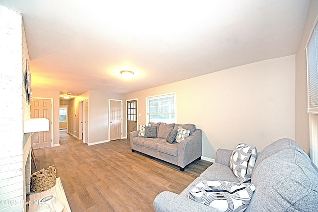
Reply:
<svg viewBox="0 0 318 212"><path fill-rule="evenodd" d="M147 123L176 123L176 93L146 97Z"/></svg>

